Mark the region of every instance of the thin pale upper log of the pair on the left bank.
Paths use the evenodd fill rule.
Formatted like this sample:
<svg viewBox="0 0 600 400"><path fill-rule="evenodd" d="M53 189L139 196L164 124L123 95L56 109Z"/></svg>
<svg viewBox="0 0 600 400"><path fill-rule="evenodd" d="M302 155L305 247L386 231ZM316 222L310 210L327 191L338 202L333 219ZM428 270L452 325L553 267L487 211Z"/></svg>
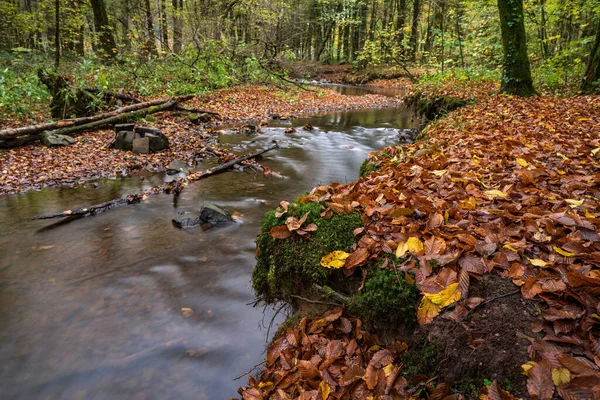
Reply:
<svg viewBox="0 0 600 400"><path fill-rule="evenodd" d="M192 97L194 97L194 96L193 95L179 96L179 97L173 98L172 100L179 103L182 101L189 100ZM19 137L19 136L33 135L33 134L37 134L37 133L42 133L44 131L55 130L55 129L59 129L62 127L67 127L67 126L84 125L84 124L88 124L90 122L107 119L107 118L113 117L115 115L128 113L131 111L137 111L137 110L141 110L141 109L152 107L152 106L158 106L160 104L167 103L169 100L171 100L171 99L159 99L159 100L147 101L145 103L133 104L131 106L119 108L118 110L115 110L115 111L92 115L89 117L64 119L61 121L24 126L21 128L14 128L14 129L2 129L2 130L0 130L0 139L9 139L9 138L15 138L15 137Z"/></svg>

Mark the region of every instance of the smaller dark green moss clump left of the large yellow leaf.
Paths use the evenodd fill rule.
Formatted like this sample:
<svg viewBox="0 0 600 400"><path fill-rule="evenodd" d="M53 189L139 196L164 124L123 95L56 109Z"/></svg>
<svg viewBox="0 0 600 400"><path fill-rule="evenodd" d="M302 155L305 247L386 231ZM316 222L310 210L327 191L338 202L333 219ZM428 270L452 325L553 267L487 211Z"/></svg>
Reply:
<svg viewBox="0 0 600 400"><path fill-rule="evenodd" d="M388 257L397 261L393 255ZM390 267L381 269L382 263L369 268L365 287L353 296L350 310L364 320L414 328L419 289Z"/></svg>

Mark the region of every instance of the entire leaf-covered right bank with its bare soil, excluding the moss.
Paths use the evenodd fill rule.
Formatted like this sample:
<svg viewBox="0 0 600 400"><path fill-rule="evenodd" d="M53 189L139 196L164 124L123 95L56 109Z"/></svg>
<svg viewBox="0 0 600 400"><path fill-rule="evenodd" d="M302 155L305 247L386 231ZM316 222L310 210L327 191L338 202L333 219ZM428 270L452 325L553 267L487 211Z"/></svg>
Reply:
<svg viewBox="0 0 600 400"><path fill-rule="evenodd" d="M472 104L423 140L371 153L358 181L301 201L324 204L324 218L360 213L353 247L328 255L363 283L395 255L383 267L417 285L419 327L384 343L341 309L305 317L271 344L243 398L599 398L600 97L452 81L414 91ZM264 234L292 240L294 222Z"/></svg>

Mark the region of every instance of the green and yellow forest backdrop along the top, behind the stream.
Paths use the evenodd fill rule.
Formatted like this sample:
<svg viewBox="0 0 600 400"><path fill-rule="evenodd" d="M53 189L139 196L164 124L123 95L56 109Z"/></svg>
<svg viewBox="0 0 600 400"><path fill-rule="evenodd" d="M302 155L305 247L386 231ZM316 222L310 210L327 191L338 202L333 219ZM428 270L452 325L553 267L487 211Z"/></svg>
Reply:
<svg viewBox="0 0 600 400"><path fill-rule="evenodd" d="M526 0L523 10L535 87L573 93L597 48L600 1ZM438 74L439 80L448 74L499 79L498 4L0 1L0 112L17 117L31 117L38 103L48 102L37 78L40 67L60 64L58 71L76 87L156 96L274 81L293 64L317 62L383 68L411 79L426 74Z"/></svg>

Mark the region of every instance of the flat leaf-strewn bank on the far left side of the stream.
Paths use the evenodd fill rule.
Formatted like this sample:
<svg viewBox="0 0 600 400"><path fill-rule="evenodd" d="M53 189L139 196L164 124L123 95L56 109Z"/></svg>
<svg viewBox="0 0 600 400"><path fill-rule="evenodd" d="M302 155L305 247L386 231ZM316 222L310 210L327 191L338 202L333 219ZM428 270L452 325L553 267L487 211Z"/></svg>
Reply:
<svg viewBox="0 0 600 400"><path fill-rule="evenodd" d="M221 114L223 121L208 130L194 125L185 114L165 112L153 115L153 122L144 122L163 130L170 149L154 154L136 154L106 148L114 139L111 129L102 129L76 137L67 147L28 145L0 150L0 194L19 193L44 187L80 184L102 177L126 176L143 168L164 170L171 161L182 160L192 165L195 154L206 146L207 140L222 132L220 125L241 126L249 123L260 128L268 124L269 116L279 114L292 118L302 114L358 108L397 106L400 98L379 95L344 96L328 90L307 91L294 86L237 86L197 96L186 106ZM3 127L14 123L4 121ZM214 146L214 145L213 145ZM223 150L224 152L224 150Z"/></svg>

